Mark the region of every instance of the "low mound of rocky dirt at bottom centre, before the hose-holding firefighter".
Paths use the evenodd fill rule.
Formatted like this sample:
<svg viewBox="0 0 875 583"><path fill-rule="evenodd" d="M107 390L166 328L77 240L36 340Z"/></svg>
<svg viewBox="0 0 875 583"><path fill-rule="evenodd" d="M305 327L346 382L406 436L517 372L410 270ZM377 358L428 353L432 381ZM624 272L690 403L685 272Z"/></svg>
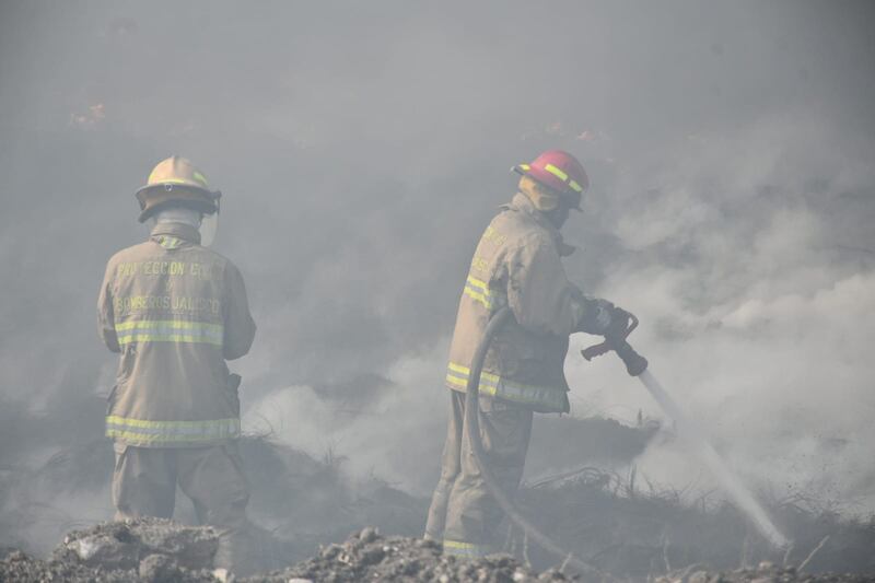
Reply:
<svg viewBox="0 0 875 583"><path fill-rule="evenodd" d="M287 583L294 580L346 583L358 581L526 582L569 581L561 572L544 573L520 564L508 555L483 559L459 559L441 552L430 540L381 537L375 528L364 528L346 543L329 545L318 556L252 583Z"/></svg>

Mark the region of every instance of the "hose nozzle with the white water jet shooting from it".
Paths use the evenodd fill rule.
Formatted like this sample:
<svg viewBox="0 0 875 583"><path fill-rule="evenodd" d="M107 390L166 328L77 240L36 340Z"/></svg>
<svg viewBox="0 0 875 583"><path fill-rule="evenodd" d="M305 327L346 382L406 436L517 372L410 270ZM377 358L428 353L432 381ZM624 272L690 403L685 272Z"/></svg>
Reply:
<svg viewBox="0 0 875 583"><path fill-rule="evenodd" d="M774 526L766 509L754 498L750 489L730 469L714 450L708 439L708 433L693 419L684 415L677 403L648 370L648 360L629 346L627 338L638 327L638 318L623 310L615 308L615 312L616 324L611 326L605 341L583 350L581 352L583 358L588 361L608 351L615 351L626 364L627 372L641 381L663 411L674 420L678 435L708 466L723 491L735 502L736 506L750 518L769 543L779 549L786 549L790 540Z"/></svg>

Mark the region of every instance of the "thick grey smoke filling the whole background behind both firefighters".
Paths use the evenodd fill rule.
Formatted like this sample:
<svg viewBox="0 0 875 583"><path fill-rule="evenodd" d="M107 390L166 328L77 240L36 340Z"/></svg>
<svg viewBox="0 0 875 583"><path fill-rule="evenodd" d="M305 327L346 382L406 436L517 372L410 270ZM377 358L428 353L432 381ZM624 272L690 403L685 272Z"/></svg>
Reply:
<svg viewBox="0 0 875 583"><path fill-rule="evenodd" d="M759 487L874 511L872 16L3 3L0 399L3 419L51 422L4 422L0 465L100 435L97 285L145 235L132 193L178 153L224 191L217 248L259 324L233 365L245 428L427 491L471 249L511 164L559 147L594 185L570 276L641 316L635 343L719 448ZM575 353L574 415L660 416L617 362ZM708 486L672 442L639 466Z"/></svg>

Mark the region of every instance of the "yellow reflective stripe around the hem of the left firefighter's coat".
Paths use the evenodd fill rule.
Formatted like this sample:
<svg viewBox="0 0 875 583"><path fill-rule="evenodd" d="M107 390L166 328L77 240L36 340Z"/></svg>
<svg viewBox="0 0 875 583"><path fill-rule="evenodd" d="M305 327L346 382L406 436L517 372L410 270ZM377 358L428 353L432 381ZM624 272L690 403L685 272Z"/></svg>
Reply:
<svg viewBox="0 0 875 583"><path fill-rule="evenodd" d="M106 436L133 443L196 444L240 436L240 419L208 421L147 421L107 416Z"/></svg>

